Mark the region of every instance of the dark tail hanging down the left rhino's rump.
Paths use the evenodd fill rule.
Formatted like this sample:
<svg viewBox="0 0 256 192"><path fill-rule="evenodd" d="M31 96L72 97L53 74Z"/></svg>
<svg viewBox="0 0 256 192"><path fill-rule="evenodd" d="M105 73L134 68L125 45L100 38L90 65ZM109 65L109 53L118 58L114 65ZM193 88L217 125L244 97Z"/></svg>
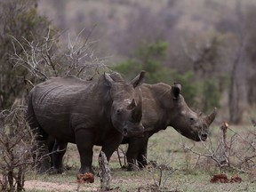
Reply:
<svg viewBox="0 0 256 192"><path fill-rule="evenodd" d="M48 134L46 132L44 132L43 128L40 126L40 124L38 123L37 119L36 119L36 114L33 108L33 90L31 92L29 92L28 95L28 111L27 111L27 122L28 125L30 126L32 132L37 136L39 136L39 138L41 138L41 140L45 140L48 137ZM40 140L40 139L39 139Z"/></svg>

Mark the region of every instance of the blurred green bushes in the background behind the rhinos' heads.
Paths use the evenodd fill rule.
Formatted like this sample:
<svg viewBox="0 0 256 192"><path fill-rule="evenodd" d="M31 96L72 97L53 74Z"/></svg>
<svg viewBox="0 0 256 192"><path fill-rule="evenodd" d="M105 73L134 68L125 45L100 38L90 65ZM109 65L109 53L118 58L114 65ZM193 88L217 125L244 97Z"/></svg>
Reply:
<svg viewBox="0 0 256 192"><path fill-rule="evenodd" d="M112 69L132 78L140 70L147 71L146 83L156 84L163 82L172 85L178 82L182 85L181 93L189 107L203 108L204 112L220 106L220 88L223 89L227 84L226 78L220 76L220 83L216 80L200 81L196 78L193 71L180 73L177 70L164 66L168 44L157 42L155 44L143 44L135 51L132 59L126 60L112 66ZM221 86L221 87L220 87Z"/></svg>

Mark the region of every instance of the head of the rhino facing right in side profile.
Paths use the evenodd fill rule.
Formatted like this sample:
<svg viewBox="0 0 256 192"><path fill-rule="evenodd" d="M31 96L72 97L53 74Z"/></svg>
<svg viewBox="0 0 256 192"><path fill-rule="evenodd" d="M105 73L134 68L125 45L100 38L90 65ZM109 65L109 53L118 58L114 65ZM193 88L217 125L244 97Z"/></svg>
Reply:
<svg viewBox="0 0 256 192"><path fill-rule="evenodd" d="M174 84L171 90L172 102L170 108L173 108L170 114L170 125L180 134L191 140L206 140L210 124L216 116L216 108L208 116L197 114L188 108L186 101L180 94L181 84Z"/></svg>

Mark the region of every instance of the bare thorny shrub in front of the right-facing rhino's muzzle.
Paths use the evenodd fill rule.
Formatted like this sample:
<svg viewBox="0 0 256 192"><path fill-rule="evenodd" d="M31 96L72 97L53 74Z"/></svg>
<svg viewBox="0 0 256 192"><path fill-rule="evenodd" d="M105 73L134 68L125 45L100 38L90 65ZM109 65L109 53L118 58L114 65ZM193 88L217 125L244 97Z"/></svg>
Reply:
<svg viewBox="0 0 256 192"><path fill-rule="evenodd" d="M217 167L220 171L227 169L252 174L256 172L256 130L238 133L224 122L220 126L219 140L213 144L202 141L203 149L183 147L198 156L196 165L207 170Z"/></svg>

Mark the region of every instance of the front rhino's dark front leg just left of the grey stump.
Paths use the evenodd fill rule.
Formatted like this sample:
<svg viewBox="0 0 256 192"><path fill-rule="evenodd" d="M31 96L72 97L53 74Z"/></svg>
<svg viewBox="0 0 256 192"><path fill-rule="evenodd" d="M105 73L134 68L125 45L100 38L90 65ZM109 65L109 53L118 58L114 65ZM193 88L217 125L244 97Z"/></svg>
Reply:
<svg viewBox="0 0 256 192"><path fill-rule="evenodd" d="M80 155L81 167L79 173L84 174L85 172L92 171L92 147L93 147L93 134L86 130L80 129L76 132L76 147Z"/></svg>

